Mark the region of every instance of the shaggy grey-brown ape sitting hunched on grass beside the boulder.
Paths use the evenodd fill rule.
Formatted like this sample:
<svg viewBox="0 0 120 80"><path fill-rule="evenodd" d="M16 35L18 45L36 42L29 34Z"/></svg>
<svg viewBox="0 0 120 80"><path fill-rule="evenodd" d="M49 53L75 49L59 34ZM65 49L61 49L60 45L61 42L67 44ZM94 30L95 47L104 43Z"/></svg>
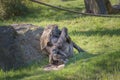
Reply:
<svg viewBox="0 0 120 80"><path fill-rule="evenodd" d="M81 48L71 41L67 28L63 28L60 31L57 25L48 26L44 30L40 41L43 50L49 55L50 64L59 65L66 63L67 59L73 56L73 47L81 51ZM43 44L42 42L45 43Z"/></svg>

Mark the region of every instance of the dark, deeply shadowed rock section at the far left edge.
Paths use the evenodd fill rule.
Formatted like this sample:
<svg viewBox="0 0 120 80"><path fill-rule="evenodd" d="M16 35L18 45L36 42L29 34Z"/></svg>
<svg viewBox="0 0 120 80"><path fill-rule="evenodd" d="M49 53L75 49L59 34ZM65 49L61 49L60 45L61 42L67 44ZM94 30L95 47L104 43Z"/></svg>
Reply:
<svg viewBox="0 0 120 80"><path fill-rule="evenodd" d="M0 67L8 70L20 66L23 62L16 42L17 32L12 27L0 27Z"/></svg>

